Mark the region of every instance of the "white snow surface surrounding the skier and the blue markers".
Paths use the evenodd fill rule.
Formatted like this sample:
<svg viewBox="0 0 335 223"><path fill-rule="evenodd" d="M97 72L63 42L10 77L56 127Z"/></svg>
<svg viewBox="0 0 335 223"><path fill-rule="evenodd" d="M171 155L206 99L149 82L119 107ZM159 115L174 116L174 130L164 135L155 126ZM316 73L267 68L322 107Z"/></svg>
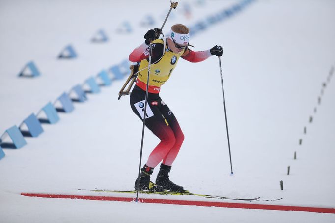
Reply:
<svg viewBox="0 0 335 223"><path fill-rule="evenodd" d="M164 30L175 23L193 26L239 2L180 1ZM188 6L190 16L183 13ZM126 59L143 41L147 29L161 26L168 7L167 0L1 0L0 134L75 84ZM234 176L229 175L218 59L211 57L196 64L181 60L160 94L186 136L170 174L174 182L195 193L284 197L270 204L335 208L335 86L334 80L327 81L335 61L334 9L333 0L258 0L191 36L195 50L215 44L224 49L223 81ZM140 21L148 14L156 24L141 27ZM116 32L125 21L133 32ZM91 43L100 28L110 41ZM67 44L73 45L79 57L58 60ZM18 78L30 60L42 75ZM0 160L1 223L335 222L334 214L20 195L111 195L75 190L96 187L132 190L142 124L131 111L128 96L117 100L123 83L115 81L100 94L89 94L87 102L75 103L72 113L58 113L60 121L43 124L44 133L25 138L25 147L4 149L6 156ZM146 130L143 164L157 143ZM297 160L293 159L295 151ZM162 198L140 195L157 196Z"/></svg>

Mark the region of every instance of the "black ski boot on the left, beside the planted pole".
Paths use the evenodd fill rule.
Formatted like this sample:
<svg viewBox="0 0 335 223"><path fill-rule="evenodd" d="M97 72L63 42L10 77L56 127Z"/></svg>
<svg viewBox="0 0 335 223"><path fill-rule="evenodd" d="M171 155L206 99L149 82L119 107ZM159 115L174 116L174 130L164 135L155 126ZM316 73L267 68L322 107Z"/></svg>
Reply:
<svg viewBox="0 0 335 223"><path fill-rule="evenodd" d="M150 175L153 173L154 168L144 165L140 171L140 179L137 178L135 181L135 190L137 191L157 191L162 192L163 187L158 186L150 181Z"/></svg>

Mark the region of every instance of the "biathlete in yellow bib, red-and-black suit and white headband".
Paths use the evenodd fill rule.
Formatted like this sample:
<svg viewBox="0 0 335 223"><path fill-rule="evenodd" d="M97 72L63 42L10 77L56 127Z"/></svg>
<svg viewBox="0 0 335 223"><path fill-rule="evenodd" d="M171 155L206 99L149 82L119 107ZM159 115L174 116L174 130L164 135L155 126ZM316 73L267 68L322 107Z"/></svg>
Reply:
<svg viewBox="0 0 335 223"><path fill-rule="evenodd" d="M141 168L140 177L135 181L135 189L155 191L167 189L183 192L184 188L182 186L176 185L169 180L168 173L184 141L184 134L173 112L160 98L159 92L161 86L168 81L180 57L190 62L201 62L212 55L222 56L223 49L221 46L216 45L206 51L195 52L190 50L189 28L182 24L173 25L167 38L155 39L156 31L153 29L149 30L144 35L144 43L134 49L129 55L131 62L139 63L139 74L136 85L130 95L130 106L133 112L142 120L149 64L148 45L152 41L145 125L161 140L149 155L144 167ZM162 164L156 178L156 185L154 185L150 183L150 175L161 161Z"/></svg>

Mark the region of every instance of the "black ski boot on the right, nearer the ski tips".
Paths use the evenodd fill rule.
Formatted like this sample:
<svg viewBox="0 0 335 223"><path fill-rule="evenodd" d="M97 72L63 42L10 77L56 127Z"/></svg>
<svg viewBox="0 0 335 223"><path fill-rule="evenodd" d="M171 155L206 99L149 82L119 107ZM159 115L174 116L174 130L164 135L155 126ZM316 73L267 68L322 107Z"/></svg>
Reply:
<svg viewBox="0 0 335 223"><path fill-rule="evenodd" d="M161 168L156 178L156 184L162 186L163 189L173 191L173 192L185 192L182 186L176 185L170 181L168 173L171 170L171 166L161 164Z"/></svg>

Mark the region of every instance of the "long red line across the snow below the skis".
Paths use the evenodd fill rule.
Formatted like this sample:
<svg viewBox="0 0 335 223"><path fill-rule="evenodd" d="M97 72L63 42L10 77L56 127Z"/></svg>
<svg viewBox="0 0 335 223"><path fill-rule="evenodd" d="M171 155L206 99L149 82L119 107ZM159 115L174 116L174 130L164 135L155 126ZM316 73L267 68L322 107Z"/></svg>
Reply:
<svg viewBox="0 0 335 223"><path fill-rule="evenodd" d="M108 200L108 201L123 201L123 202L135 201L134 198L130 197L114 197L114 196L60 195L60 194L39 194L39 193L21 193L21 195L31 197L67 198L67 199L83 199L83 200ZM335 208L319 208L319 207L283 206L283 205L251 204L251 203L227 203L227 202L212 202L212 201L191 201L191 200L147 199L147 198L139 198L139 202L154 203L154 204L178 204L178 205L195 205L204 207L226 207L226 208L261 209L261 210L277 210L277 211L308 211L308 212L335 214Z"/></svg>

